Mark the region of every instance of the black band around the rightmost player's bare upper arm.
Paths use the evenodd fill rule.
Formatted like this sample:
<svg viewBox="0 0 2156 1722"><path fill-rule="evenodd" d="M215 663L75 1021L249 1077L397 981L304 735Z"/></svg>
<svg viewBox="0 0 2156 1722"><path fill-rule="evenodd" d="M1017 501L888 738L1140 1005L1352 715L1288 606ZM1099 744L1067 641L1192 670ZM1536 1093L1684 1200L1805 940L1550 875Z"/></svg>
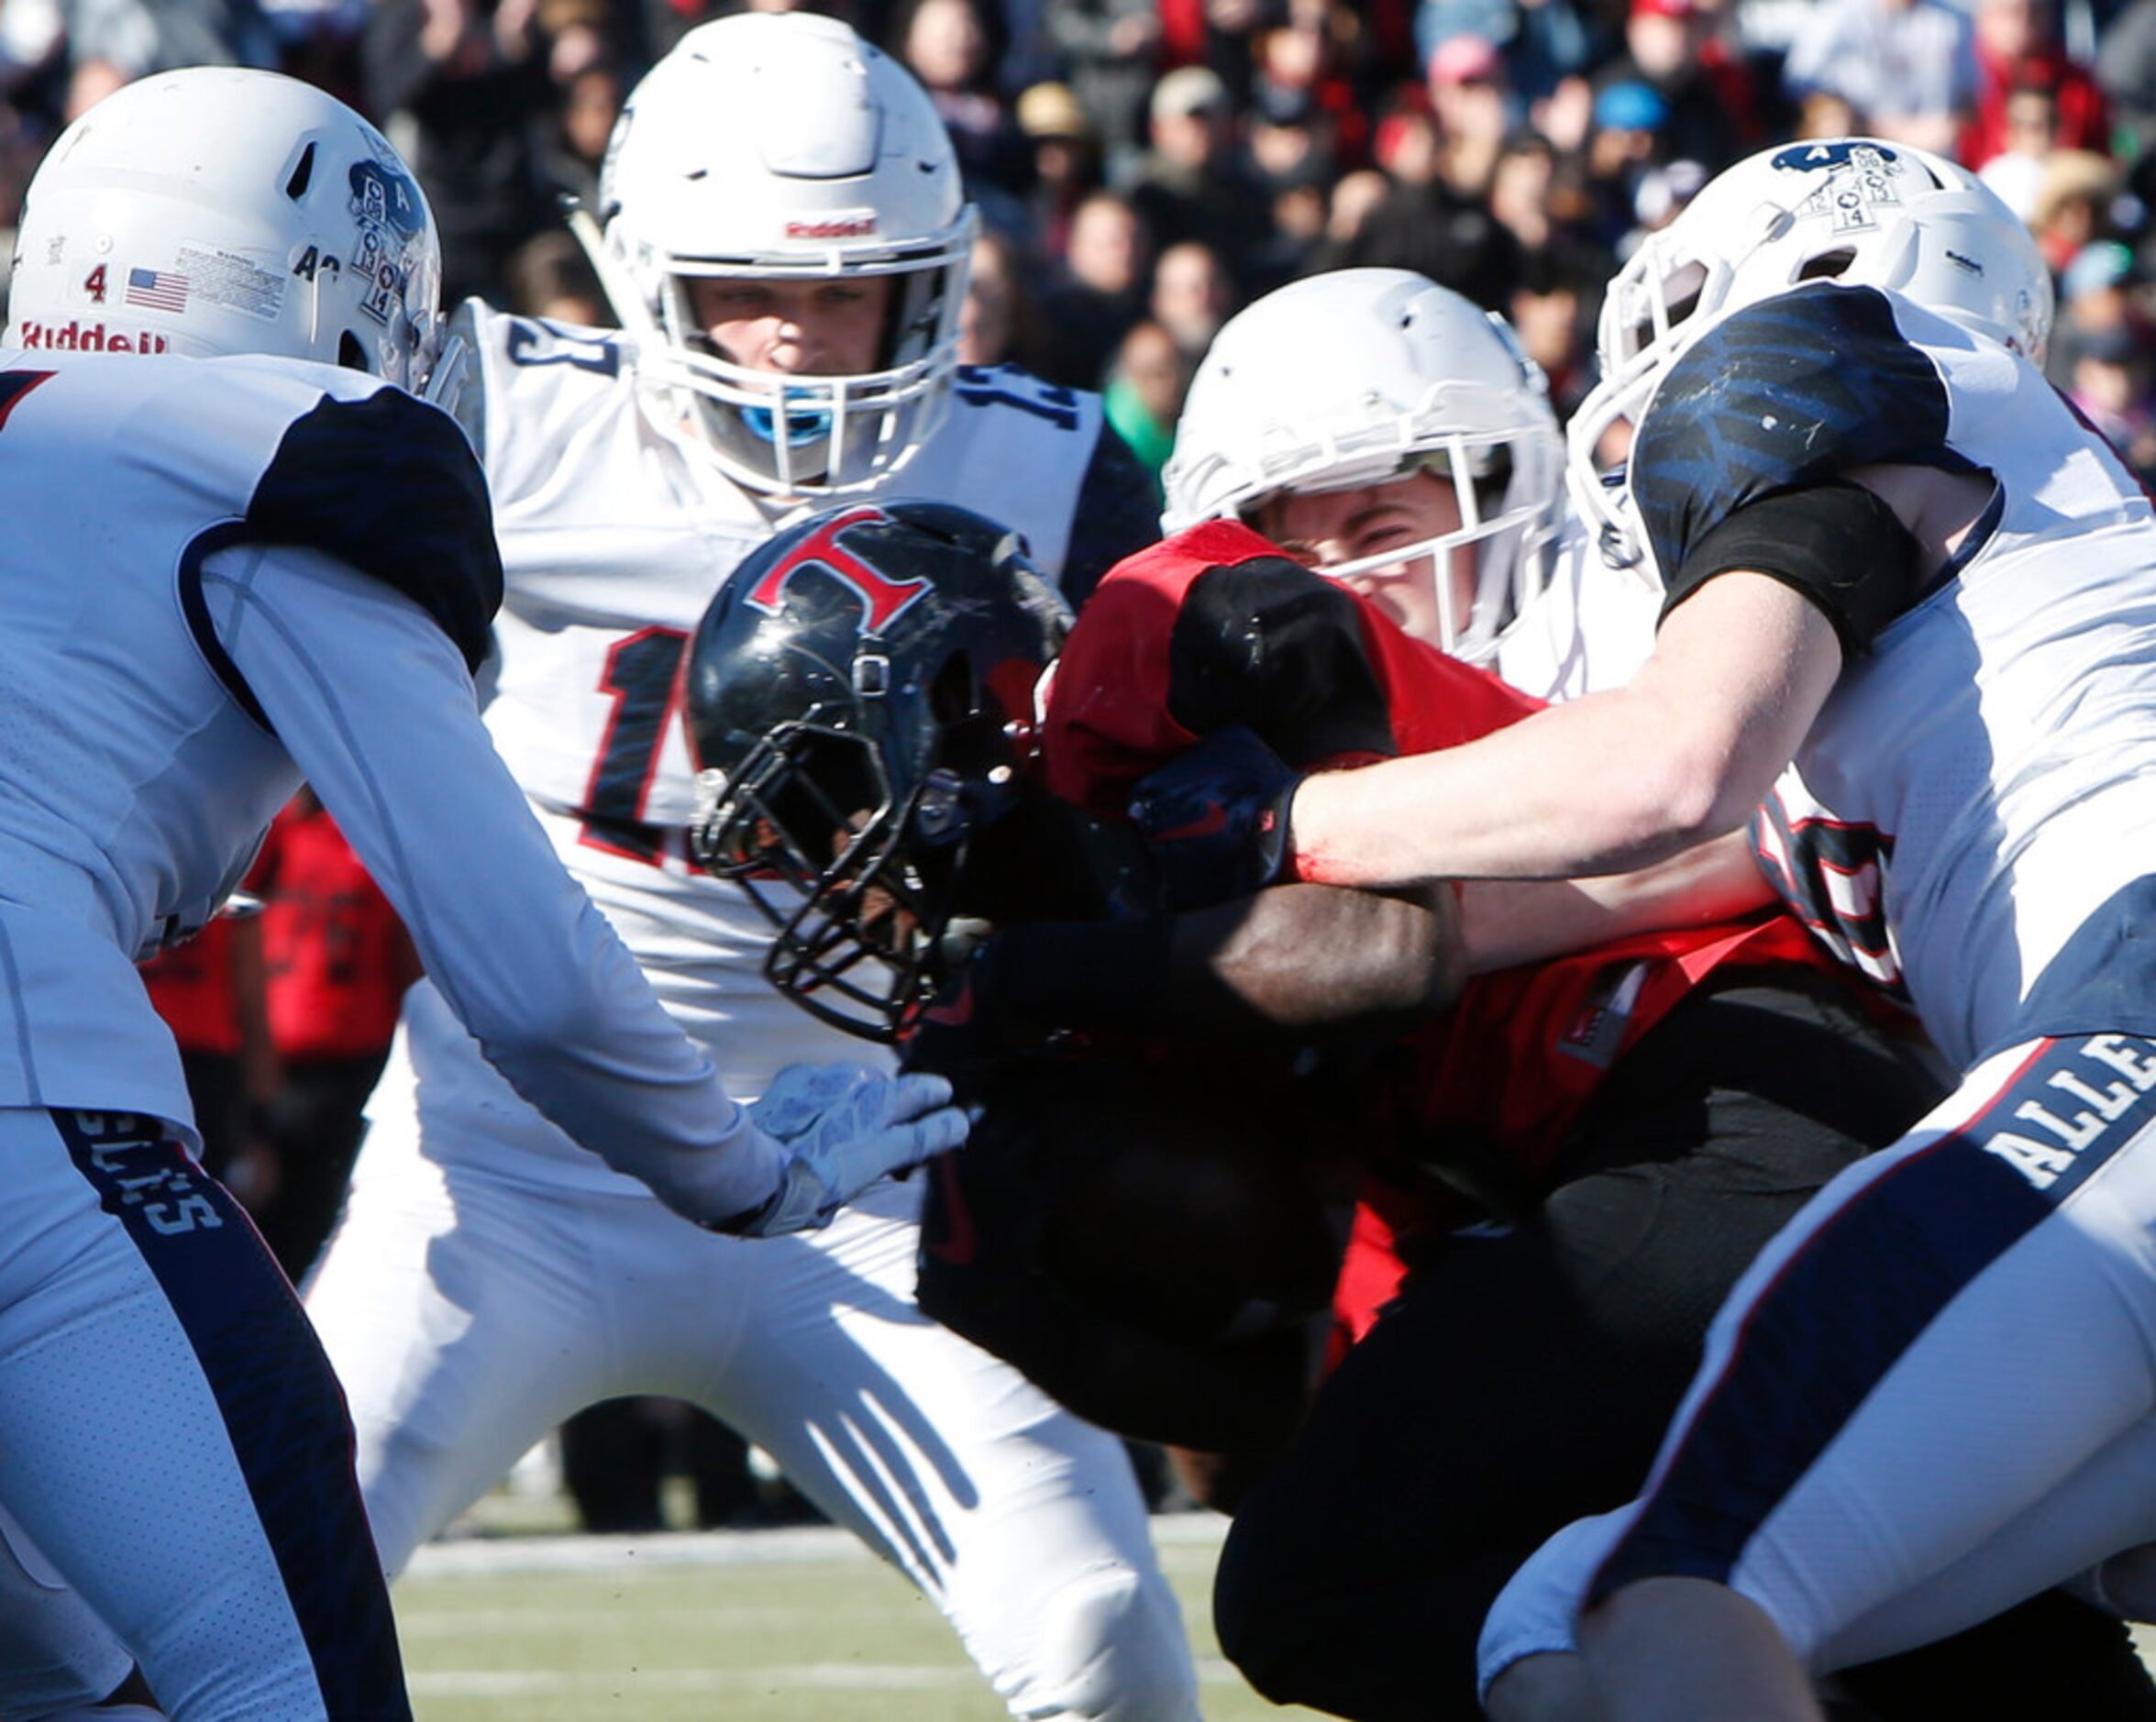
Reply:
<svg viewBox="0 0 2156 1722"><path fill-rule="evenodd" d="M1716 573L1751 569L1802 593L1841 636L1871 649L1917 597L1917 539L1863 485L1833 483L1749 502L1712 528L1669 582L1667 616Z"/></svg>

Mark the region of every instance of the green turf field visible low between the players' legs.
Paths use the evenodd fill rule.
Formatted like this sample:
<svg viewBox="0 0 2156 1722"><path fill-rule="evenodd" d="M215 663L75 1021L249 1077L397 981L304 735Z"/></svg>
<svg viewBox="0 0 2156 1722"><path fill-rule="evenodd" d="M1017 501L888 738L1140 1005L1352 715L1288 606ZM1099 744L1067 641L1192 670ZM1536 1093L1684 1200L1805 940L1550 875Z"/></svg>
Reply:
<svg viewBox="0 0 2156 1722"><path fill-rule="evenodd" d="M1311 1716L1214 1644L1210 1515L1158 1519L1210 1722ZM942 1619L832 1530L436 1543L397 1586L418 1722L996 1722Z"/></svg>

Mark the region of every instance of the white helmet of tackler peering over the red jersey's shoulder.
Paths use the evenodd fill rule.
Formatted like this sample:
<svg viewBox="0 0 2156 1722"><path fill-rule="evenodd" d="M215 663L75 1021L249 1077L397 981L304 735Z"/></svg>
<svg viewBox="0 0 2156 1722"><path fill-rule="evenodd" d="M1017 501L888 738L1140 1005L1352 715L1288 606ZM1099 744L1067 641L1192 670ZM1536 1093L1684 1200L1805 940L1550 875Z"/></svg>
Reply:
<svg viewBox="0 0 2156 1722"><path fill-rule="evenodd" d="M1242 517L1289 491L1451 478L1460 530L1328 567L1345 578L1427 556L1440 644L1483 662L1542 591L1563 496L1563 438L1511 330L1408 269L1337 269L1231 317L1175 427L1164 526ZM1451 552L1477 545L1475 608L1455 616Z"/></svg>

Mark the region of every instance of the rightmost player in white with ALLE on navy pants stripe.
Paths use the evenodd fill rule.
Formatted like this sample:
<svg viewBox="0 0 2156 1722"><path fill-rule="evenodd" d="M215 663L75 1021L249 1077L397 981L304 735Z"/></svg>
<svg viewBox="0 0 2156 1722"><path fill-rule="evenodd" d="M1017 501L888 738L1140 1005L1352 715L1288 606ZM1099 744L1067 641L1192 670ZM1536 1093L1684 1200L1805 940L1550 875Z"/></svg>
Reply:
<svg viewBox="0 0 2156 1722"><path fill-rule="evenodd" d="M1388 886L1749 828L1962 1073L1738 1284L1647 1491L1501 1597L1494 1713L1815 1716L1809 1670L2070 1573L2115 1595L2156 1532L2156 519L2035 366L1895 291L1981 265L1904 220L1938 188L1897 144L1768 151L1613 282L1669 593L1632 681L1367 774L1244 765L1220 810L1266 841L1179 845Z"/></svg>

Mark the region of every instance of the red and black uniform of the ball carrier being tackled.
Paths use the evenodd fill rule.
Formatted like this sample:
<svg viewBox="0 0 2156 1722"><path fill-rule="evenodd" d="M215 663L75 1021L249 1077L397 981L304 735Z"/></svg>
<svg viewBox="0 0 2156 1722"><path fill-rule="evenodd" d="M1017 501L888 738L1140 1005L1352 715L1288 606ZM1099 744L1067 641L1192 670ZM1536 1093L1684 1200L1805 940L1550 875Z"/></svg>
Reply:
<svg viewBox="0 0 2156 1722"><path fill-rule="evenodd" d="M1046 752L1052 789L1110 815L1227 724L1317 769L1531 709L1212 524L1093 593ZM1369 1071L1337 1297L1360 1343L1240 1506L1216 1623L1279 1703L1470 1718L1475 1636L1514 1567L1634 1491L1753 1252L1940 1084L1781 914L1481 976ZM1432 1200L1416 1166L1492 1200Z"/></svg>

